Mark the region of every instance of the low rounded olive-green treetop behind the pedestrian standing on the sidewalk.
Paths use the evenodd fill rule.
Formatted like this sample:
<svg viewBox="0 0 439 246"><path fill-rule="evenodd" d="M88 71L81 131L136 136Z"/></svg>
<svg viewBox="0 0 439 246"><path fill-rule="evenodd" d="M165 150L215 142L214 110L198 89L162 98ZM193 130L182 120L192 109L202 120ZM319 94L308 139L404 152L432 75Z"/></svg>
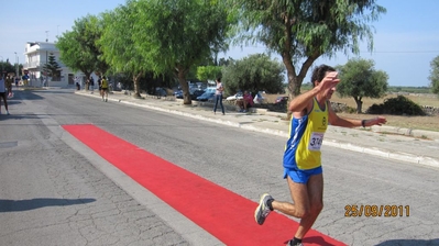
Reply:
<svg viewBox="0 0 439 246"><path fill-rule="evenodd" d="M238 90L267 93L284 91L285 67L264 54L250 55L237 60L222 70L226 93L233 94Z"/></svg>

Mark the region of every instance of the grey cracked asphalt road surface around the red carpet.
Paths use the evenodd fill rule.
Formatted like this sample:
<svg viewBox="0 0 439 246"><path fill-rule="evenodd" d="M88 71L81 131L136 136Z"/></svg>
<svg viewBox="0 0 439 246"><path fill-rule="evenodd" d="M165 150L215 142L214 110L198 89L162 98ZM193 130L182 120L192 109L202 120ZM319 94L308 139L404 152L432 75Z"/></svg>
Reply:
<svg viewBox="0 0 439 246"><path fill-rule="evenodd" d="M17 91L10 112L0 115L0 245L221 245L64 124L92 123L252 201L263 192L290 200L283 137L70 90ZM322 156L325 209L315 230L348 245L439 245L439 169L329 146ZM397 216L354 216L355 205L395 205Z"/></svg>

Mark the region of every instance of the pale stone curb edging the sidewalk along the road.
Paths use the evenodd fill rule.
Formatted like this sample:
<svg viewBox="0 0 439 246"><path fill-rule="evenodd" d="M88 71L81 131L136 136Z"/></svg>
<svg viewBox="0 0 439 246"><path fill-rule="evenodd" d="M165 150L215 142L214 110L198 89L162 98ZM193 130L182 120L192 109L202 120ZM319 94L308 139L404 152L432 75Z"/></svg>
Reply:
<svg viewBox="0 0 439 246"><path fill-rule="evenodd" d="M89 97L96 97L94 94L88 94L88 93L80 93L80 94L89 96ZM288 133L285 132L285 131L281 131L281 130L262 128L262 127L257 127L257 126L251 126L251 125L241 124L241 123L231 122L231 121L226 121L226 120L221 120L221 119L212 119L212 118L208 118L208 116L204 116L204 115L180 112L180 111L177 111L177 110L163 109L163 108L155 107L155 105L130 102L130 101L125 101L125 100L122 100L122 99L111 99L111 98L109 98L109 100L110 101L114 101L114 102L121 102L121 103L130 104L130 105L147 108L147 109L152 109L152 110L156 110L156 111L161 111L161 112L165 112L165 113L173 113L173 114L183 115L183 116L187 116L187 118L191 118L191 119L208 121L208 122L212 122L212 123L217 123L217 124L223 124L223 125L233 126L233 127L238 127L238 128L243 128L243 130L248 130L248 131L272 134L272 135L282 136L282 137L285 137L285 138L288 137ZM200 105L202 105L202 104L200 104ZM376 127L381 127L380 128L381 131L377 131L376 128L373 127L374 132L383 132L382 131L383 126L376 126ZM394 132L394 133L398 133L398 134L402 133L400 131L407 131L406 128L398 128L398 127L392 127L392 126L384 126L384 127L386 127L386 131L388 131L388 132ZM416 131L416 132L421 133L421 132L427 132L427 131L420 131L419 130L419 131ZM414 131L410 131L410 133L413 134ZM428 132L428 133L430 133L430 132ZM413 135L410 135L410 136L413 136ZM439 133L438 133L438 139L439 139ZM330 138L325 138L323 139L323 144L328 145L328 146L331 146L331 147L338 147L338 148L341 148L341 149L347 149L347 150L352 150L352 152L358 152L358 153L364 153L364 154L380 156L380 157L388 158L388 159L393 159L393 160L402 160L402 161L414 163L414 164L419 164L419 165L424 165L424 166L430 166L430 167L438 167L439 168L439 160L435 159L435 158L431 158L431 157L417 156L417 155L414 155L414 154L408 154L408 153L403 153L403 152L394 153L394 152L389 152L389 150L381 150L378 148L363 147L363 146L359 146L359 145L353 145L351 143L338 142L336 139L330 139Z"/></svg>

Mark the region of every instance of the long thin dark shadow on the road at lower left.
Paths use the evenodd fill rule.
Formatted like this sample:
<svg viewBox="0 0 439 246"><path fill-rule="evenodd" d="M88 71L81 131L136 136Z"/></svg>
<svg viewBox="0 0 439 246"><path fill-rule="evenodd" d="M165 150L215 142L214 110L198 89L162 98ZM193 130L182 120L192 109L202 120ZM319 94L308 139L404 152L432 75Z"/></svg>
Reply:
<svg viewBox="0 0 439 246"><path fill-rule="evenodd" d="M95 202L96 199L56 199L35 198L30 200L2 200L0 199L0 213L35 210L44 206L65 206Z"/></svg>

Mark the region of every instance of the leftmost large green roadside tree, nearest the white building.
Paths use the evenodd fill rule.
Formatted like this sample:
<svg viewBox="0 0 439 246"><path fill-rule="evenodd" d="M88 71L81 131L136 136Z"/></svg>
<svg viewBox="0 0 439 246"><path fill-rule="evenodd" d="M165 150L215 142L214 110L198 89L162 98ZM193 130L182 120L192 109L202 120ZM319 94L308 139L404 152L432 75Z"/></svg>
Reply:
<svg viewBox="0 0 439 246"><path fill-rule="evenodd" d="M59 36L56 43L61 53L59 59L72 70L83 71L87 78L92 71L106 74L108 69L101 57L100 46L97 44L103 31L102 24L102 20L96 15L78 19L72 31Z"/></svg>

